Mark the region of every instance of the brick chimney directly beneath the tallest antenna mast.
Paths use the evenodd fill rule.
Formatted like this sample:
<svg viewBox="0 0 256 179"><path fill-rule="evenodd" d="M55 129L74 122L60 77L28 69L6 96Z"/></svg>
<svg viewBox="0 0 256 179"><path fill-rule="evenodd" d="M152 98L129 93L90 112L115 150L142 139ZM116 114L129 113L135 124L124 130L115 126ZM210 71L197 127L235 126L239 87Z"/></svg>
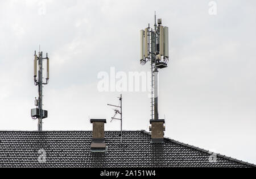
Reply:
<svg viewBox="0 0 256 179"><path fill-rule="evenodd" d="M151 142L163 143L164 142L164 119L150 120Z"/></svg>

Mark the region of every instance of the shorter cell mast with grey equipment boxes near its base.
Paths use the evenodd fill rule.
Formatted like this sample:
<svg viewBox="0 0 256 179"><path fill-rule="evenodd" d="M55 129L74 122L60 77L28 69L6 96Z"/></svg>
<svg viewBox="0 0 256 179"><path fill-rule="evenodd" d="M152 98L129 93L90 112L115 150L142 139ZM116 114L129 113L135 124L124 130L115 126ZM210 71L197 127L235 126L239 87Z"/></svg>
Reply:
<svg viewBox="0 0 256 179"><path fill-rule="evenodd" d="M40 48L40 45L39 45ZM43 52L38 52L36 55L35 51L34 58L34 84L38 86L38 99L35 98L35 109L31 109L32 119L38 119L38 131L42 131L43 119L47 118L48 111L43 110L43 85L47 85L49 82L49 58L48 53L46 57L43 57ZM43 82L43 60L46 60L47 72L46 72L46 81ZM39 68L39 69L38 69ZM38 78L37 78L38 77Z"/></svg>

